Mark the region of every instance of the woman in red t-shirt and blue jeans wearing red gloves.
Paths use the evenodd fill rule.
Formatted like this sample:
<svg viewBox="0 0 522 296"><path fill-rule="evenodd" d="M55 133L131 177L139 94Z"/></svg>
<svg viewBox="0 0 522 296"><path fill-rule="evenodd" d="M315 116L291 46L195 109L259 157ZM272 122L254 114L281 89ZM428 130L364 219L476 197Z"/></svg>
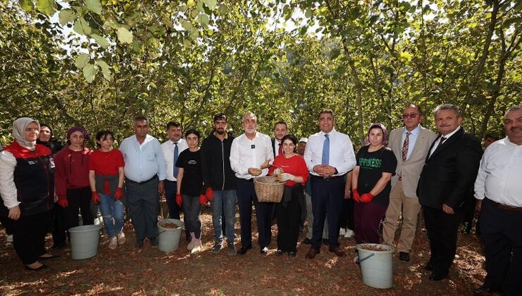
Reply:
<svg viewBox="0 0 522 296"><path fill-rule="evenodd" d="M123 234L123 155L114 149L114 135L109 130L96 134L99 149L90 154L89 183L92 203L99 204L103 223L109 235L109 248L116 249L125 243Z"/></svg>

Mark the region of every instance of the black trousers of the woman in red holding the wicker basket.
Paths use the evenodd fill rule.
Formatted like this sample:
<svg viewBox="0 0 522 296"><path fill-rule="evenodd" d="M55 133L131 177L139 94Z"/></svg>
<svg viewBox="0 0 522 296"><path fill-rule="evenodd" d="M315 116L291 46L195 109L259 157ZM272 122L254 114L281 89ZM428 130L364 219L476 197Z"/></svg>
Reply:
<svg viewBox="0 0 522 296"><path fill-rule="evenodd" d="M277 217L277 249L283 252L297 252L297 240L299 226L301 225L301 203L304 198L303 186L297 185L292 190L292 198L289 202L275 204ZM301 190L299 196L298 190Z"/></svg>

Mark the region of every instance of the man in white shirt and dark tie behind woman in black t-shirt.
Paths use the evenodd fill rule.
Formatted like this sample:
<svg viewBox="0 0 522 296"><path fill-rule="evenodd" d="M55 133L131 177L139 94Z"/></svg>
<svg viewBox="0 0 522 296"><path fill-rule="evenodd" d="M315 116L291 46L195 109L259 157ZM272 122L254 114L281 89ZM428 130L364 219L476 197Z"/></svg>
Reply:
<svg viewBox="0 0 522 296"><path fill-rule="evenodd" d="M180 206L176 204L176 181L178 180L178 167L176 161L179 154L188 148L187 141L181 138L181 124L171 121L166 124L166 133L169 140L162 144L163 156L165 159L166 179L165 179L165 198L169 206L169 218L179 219Z"/></svg>

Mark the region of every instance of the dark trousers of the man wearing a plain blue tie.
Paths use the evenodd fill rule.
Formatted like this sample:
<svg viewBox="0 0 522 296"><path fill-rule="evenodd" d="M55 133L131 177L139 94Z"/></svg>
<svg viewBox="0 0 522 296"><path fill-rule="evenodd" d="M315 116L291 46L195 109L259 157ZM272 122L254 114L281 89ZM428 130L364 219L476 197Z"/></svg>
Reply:
<svg viewBox="0 0 522 296"><path fill-rule="evenodd" d="M312 212L314 214L312 246L321 247L324 219L328 218L328 240L330 247L339 247L339 225L343 211L344 185L343 178L328 180L311 176ZM328 216L327 216L328 213Z"/></svg>

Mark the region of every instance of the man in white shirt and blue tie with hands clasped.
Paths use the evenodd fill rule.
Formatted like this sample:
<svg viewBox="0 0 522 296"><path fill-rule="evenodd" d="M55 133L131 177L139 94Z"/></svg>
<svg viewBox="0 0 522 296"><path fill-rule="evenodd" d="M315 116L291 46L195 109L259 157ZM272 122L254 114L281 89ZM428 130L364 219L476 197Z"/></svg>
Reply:
<svg viewBox="0 0 522 296"><path fill-rule="evenodd" d="M329 252L344 256L339 247L339 227L344 200L344 177L356 166L356 156L348 135L334 129L334 113L323 109L319 114L320 132L311 135L305 149L305 162L312 185L314 216L312 246L306 258L320 253L324 218L328 213Z"/></svg>

